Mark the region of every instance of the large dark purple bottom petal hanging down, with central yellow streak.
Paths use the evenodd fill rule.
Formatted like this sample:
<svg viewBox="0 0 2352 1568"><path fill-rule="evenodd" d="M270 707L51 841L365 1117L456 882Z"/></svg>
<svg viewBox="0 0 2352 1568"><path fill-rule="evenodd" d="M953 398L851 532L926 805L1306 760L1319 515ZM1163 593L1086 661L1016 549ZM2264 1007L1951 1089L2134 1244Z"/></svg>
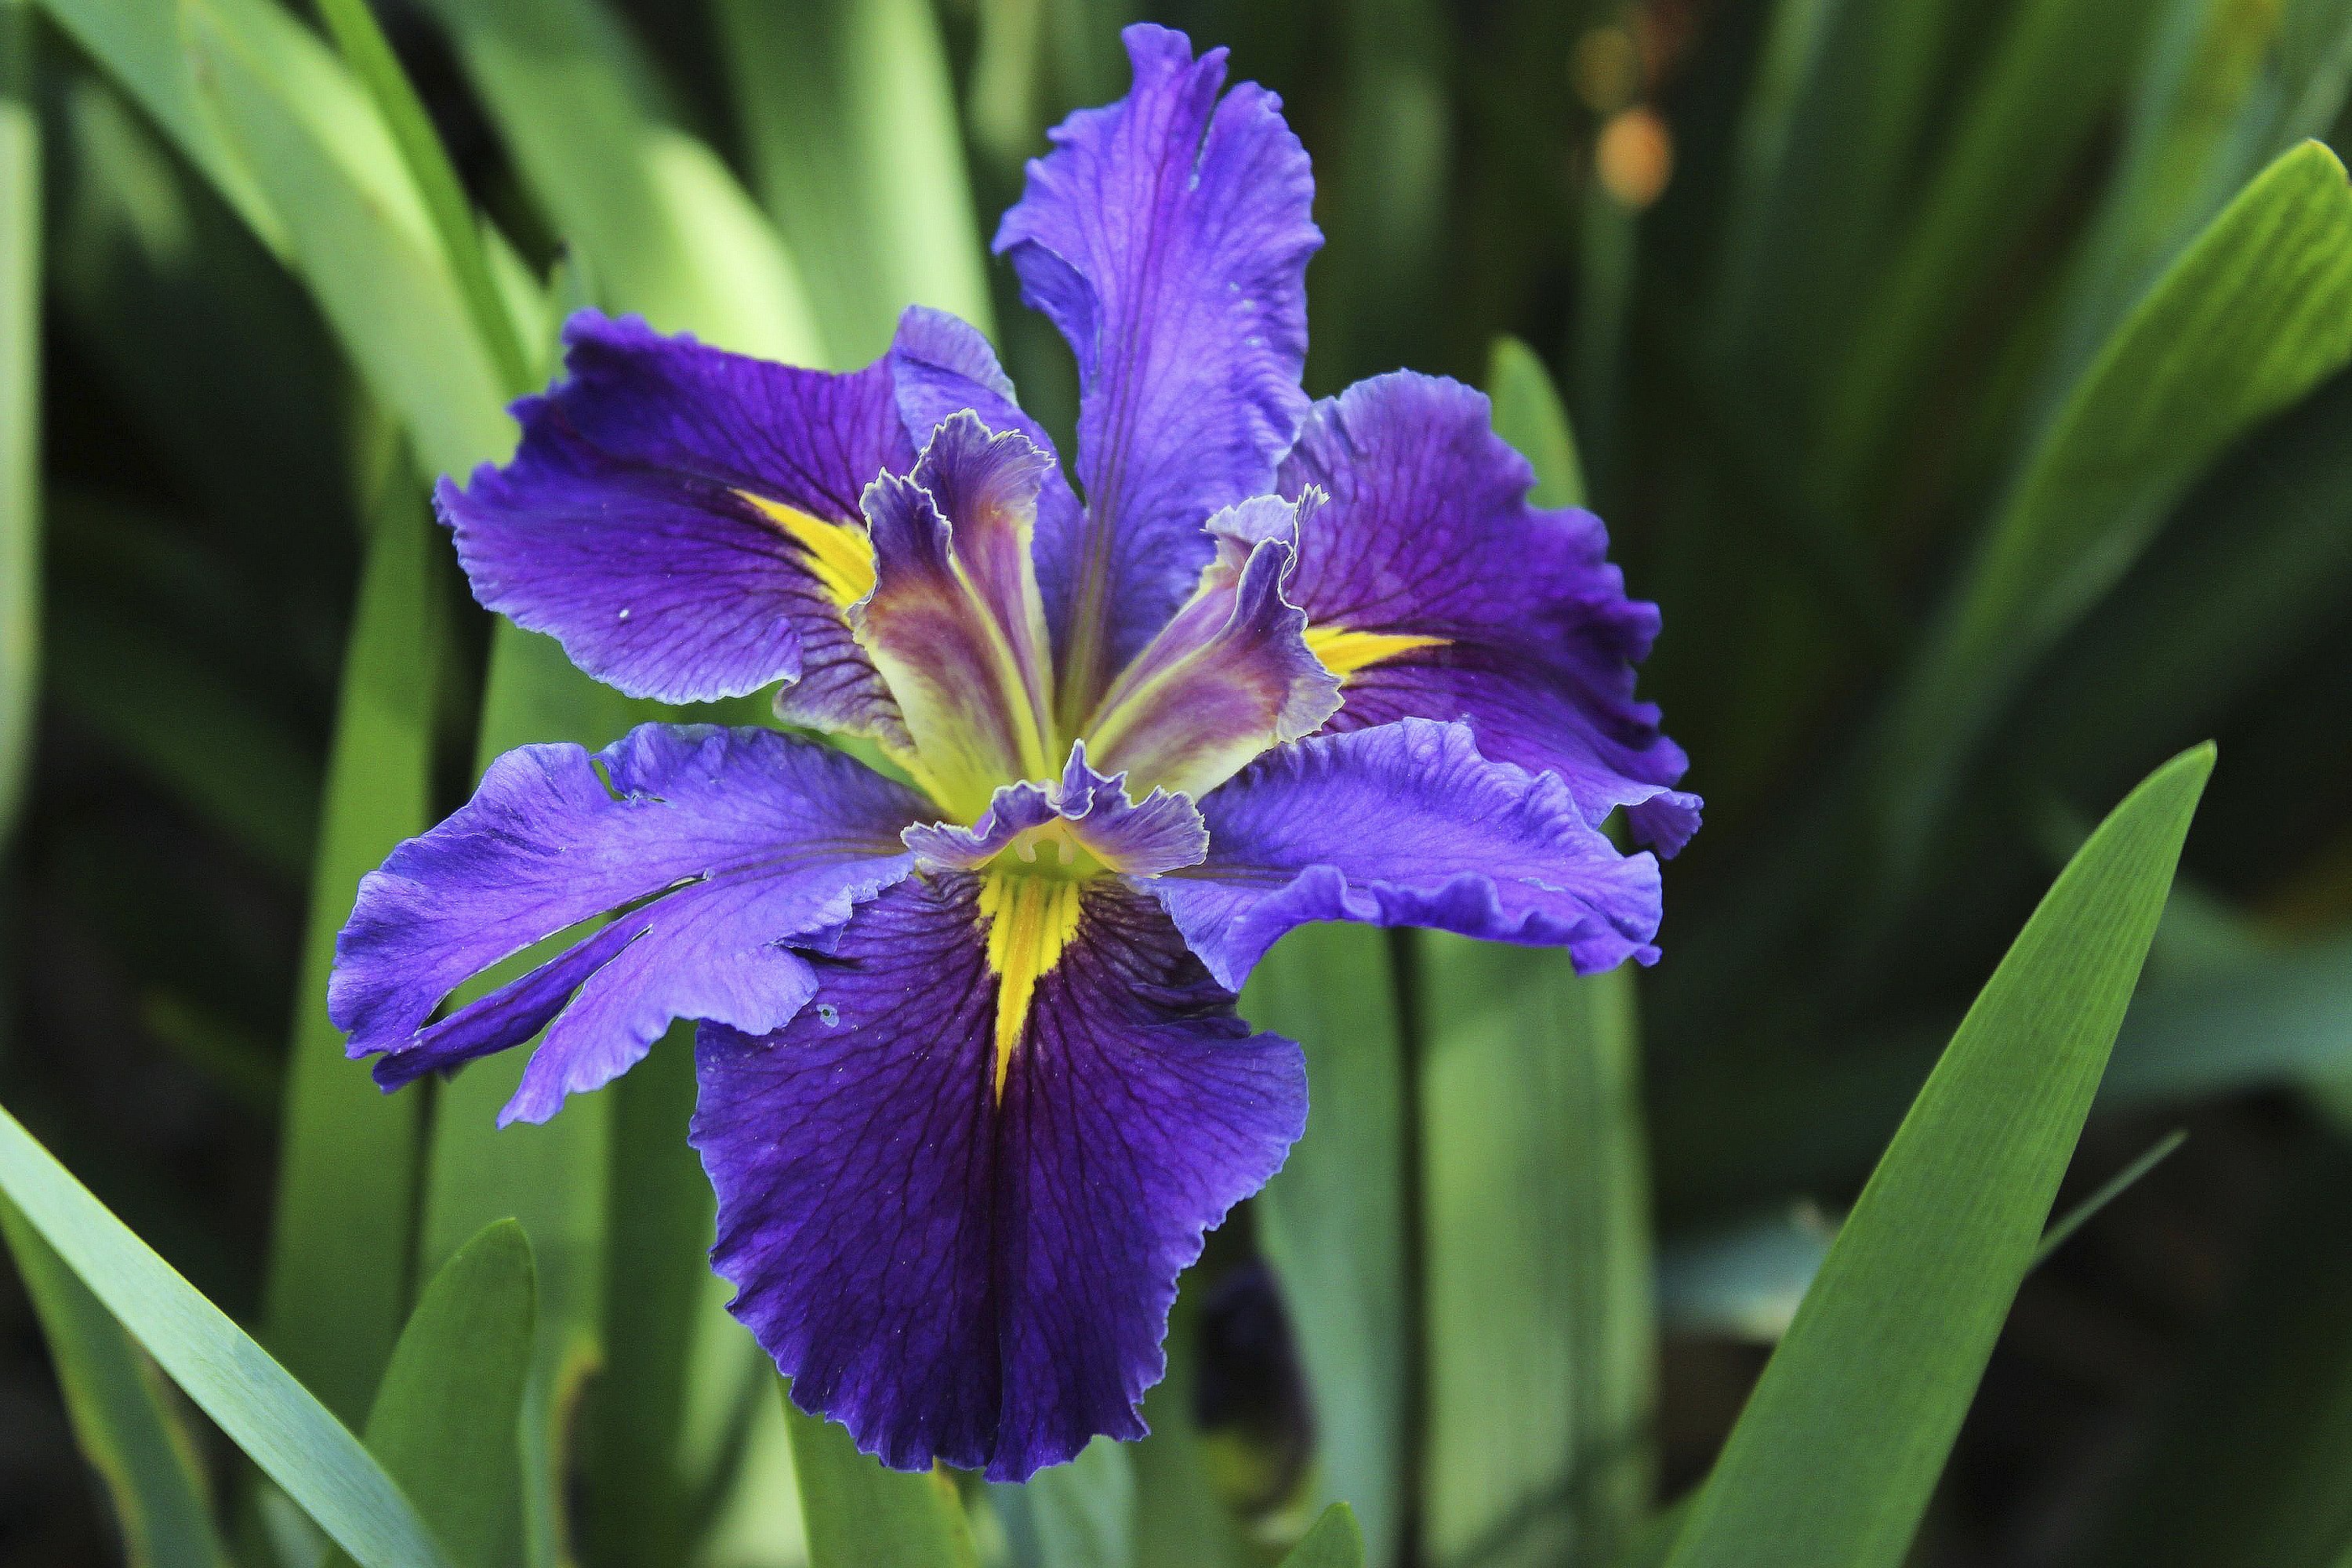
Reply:
<svg viewBox="0 0 2352 1568"><path fill-rule="evenodd" d="M1143 1436L1176 1274L1305 1126L1150 898L1087 889L1002 1098L976 879L910 879L814 959L818 1004L701 1032L713 1262L793 1399L884 1465L1021 1481Z"/></svg>

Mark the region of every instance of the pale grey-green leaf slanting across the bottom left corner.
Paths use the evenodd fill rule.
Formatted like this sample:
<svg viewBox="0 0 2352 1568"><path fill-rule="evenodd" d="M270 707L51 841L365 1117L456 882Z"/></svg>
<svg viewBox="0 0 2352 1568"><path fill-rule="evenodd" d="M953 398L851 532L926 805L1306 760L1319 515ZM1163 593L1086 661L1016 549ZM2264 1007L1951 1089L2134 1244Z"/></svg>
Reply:
<svg viewBox="0 0 2352 1568"><path fill-rule="evenodd" d="M0 1110L0 1192L228 1439L365 1568L454 1568L327 1406Z"/></svg>

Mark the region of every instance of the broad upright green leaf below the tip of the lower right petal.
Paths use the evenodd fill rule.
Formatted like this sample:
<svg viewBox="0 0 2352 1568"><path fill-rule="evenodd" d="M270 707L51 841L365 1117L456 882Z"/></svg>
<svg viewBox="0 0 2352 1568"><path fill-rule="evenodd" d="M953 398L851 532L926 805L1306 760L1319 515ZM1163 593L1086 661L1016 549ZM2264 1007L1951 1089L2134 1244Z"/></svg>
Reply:
<svg viewBox="0 0 2352 1568"><path fill-rule="evenodd" d="M1425 1552L1616 1552L1649 1507L1651 1258L1630 976L1423 936Z"/></svg>

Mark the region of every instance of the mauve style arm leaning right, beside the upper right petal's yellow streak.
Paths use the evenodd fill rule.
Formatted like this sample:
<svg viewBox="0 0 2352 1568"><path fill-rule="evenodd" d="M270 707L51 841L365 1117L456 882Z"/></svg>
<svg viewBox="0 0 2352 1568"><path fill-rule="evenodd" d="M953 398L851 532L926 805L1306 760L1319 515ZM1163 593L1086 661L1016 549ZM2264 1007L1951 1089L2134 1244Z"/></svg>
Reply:
<svg viewBox="0 0 2352 1568"><path fill-rule="evenodd" d="M1258 496L1209 520L1218 559L1087 722L1105 766L1207 795L1338 710L1341 684L1308 649L1308 616L1282 590L1296 520L1312 508L1312 496Z"/></svg>

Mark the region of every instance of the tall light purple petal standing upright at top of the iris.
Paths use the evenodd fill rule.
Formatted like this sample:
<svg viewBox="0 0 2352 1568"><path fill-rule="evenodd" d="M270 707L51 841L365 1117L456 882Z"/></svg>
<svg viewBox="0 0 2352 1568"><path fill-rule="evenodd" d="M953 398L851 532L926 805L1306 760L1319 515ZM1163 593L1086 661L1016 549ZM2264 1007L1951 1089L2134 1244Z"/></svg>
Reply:
<svg viewBox="0 0 2352 1568"><path fill-rule="evenodd" d="M1272 489L1305 395L1315 176L1254 82L1218 99L1225 52L1124 33L1134 87L1054 132L995 249L1077 353L1080 541L1047 534L1040 578L1068 625L1082 715L1209 562L1211 512Z"/></svg>

